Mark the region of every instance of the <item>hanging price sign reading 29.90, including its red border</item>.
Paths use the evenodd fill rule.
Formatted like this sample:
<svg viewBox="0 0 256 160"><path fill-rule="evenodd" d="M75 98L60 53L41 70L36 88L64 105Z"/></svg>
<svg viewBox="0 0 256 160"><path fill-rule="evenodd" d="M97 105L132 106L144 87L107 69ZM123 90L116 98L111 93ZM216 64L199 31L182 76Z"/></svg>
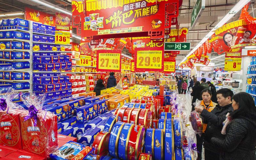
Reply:
<svg viewBox="0 0 256 160"><path fill-rule="evenodd" d="M137 52L136 52L137 50ZM135 49L135 71L163 71L164 47L145 47Z"/></svg>

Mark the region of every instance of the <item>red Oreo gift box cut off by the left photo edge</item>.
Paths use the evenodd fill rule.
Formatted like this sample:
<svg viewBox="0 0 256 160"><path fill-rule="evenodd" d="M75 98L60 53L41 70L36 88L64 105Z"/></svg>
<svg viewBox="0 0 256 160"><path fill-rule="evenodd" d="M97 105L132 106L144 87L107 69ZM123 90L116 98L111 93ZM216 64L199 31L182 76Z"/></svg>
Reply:
<svg viewBox="0 0 256 160"><path fill-rule="evenodd" d="M21 149L20 113L22 110L12 109L7 114L0 112L0 143Z"/></svg>

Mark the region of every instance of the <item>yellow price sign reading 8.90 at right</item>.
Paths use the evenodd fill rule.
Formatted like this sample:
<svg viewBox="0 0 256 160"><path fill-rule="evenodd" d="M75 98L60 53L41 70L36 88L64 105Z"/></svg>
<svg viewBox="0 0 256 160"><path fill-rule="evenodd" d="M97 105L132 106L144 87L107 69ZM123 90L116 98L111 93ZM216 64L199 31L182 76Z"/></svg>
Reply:
<svg viewBox="0 0 256 160"><path fill-rule="evenodd" d="M241 58L225 58L225 71L240 71L241 70Z"/></svg>

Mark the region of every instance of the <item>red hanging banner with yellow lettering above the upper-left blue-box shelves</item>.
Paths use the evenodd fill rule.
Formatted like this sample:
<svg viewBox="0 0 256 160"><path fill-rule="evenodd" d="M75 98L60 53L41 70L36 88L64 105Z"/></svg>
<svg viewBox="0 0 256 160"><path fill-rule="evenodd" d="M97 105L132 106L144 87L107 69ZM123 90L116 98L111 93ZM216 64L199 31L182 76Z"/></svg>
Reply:
<svg viewBox="0 0 256 160"><path fill-rule="evenodd" d="M55 26L55 15L25 7L25 19Z"/></svg>

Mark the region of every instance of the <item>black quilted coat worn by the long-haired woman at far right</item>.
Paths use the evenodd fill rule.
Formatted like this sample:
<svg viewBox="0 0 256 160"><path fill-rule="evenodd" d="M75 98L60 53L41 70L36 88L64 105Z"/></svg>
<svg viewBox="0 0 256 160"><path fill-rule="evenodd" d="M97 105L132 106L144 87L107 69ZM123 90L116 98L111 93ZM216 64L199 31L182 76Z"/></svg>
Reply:
<svg viewBox="0 0 256 160"><path fill-rule="evenodd" d="M226 137L212 137L211 143L222 151L221 160L256 160L256 121L247 117L235 118L226 128Z"/></svg>

